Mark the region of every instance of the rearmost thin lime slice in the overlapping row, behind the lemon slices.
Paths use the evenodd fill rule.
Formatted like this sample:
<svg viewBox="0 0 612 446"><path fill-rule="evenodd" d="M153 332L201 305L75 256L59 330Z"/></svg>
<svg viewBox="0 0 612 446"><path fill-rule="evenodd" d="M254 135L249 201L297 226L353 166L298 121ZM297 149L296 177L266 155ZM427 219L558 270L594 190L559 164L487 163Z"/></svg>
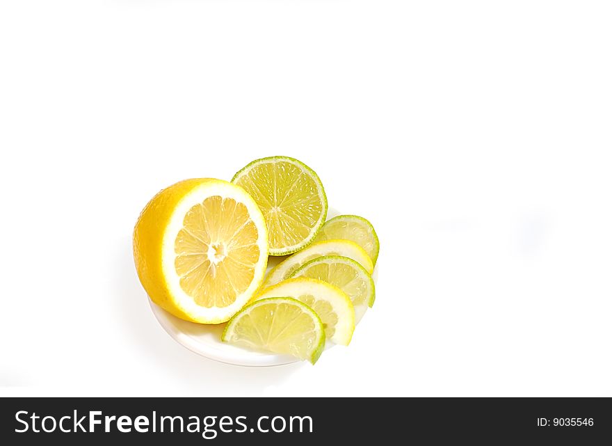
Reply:
<svg viewBox="0 0 612 446"><path fill-rule="evenodd" d="M372 223L365 218L356 215L339 215L330 218L316 234L314 241L337 239L354 241L368 253L372 264L376 264L379 249L378 236Z"/></svg>

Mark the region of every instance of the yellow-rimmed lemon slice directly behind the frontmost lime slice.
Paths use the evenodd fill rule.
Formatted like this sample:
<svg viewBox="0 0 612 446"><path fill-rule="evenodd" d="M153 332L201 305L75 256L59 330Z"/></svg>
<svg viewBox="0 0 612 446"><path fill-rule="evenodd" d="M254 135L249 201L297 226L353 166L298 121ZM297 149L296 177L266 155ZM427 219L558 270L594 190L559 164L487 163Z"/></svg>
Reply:
<svg viewBox="0 0 612 446"><path fill-rule="evenodd" d="M255 299L282 296L292 297L312 308L323 322L326 340L341 345L351 342L355 311L351 299L341 289L322 280L300 277L268 287Z"/></svg>

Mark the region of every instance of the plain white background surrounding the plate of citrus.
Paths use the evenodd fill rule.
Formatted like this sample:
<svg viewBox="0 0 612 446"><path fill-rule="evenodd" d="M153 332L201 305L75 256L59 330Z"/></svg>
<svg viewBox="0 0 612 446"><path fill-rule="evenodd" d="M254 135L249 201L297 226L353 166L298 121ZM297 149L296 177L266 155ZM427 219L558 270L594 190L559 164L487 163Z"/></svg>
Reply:
<svg viewBox="0 0 612 446"><path fill-rule="evenodd" d="M3 0L2 395L612 396L607 1ZM140 209L287 154L381 242L314 367L157 324Z"/></svg>

